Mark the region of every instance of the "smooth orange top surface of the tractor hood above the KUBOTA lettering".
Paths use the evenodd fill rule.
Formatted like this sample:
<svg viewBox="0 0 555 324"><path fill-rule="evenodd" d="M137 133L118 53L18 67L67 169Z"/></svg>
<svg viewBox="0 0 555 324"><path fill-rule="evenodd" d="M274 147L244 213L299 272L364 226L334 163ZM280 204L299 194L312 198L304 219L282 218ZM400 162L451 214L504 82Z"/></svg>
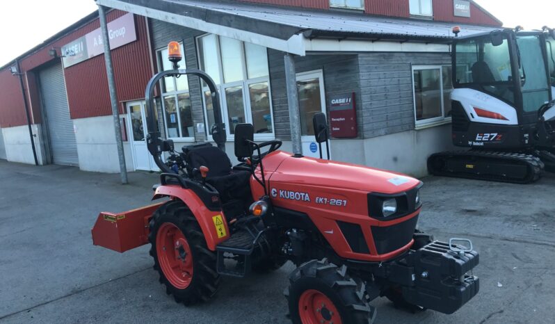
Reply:
<svg viewBox="0 0 555 324"><path fill-rule="evenodd" d="M271 183L344 188L386 194L407 191L420 183L417 179L395 172L309 157L296 158L285 152L266 156L264 163L271 160L274 161L268 164L275 165L277 160L281 161L271 175Z"/></svg>

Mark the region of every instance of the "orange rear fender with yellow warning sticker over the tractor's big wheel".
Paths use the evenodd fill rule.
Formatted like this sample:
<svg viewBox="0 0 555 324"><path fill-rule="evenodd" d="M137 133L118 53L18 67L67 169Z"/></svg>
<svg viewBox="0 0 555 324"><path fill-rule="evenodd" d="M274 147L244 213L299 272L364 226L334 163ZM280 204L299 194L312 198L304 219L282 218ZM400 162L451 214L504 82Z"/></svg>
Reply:
<svg viewBox="0 0 555 324"><path fill-rule="evenodd" d="M216 245L230 237L230 230L222 211L211 211L191 189L177 186L159 186L154 191L152 200L161 197L179 199L191 210L198 225L202 230L206 245L211 251L216 250Z"/></svg>

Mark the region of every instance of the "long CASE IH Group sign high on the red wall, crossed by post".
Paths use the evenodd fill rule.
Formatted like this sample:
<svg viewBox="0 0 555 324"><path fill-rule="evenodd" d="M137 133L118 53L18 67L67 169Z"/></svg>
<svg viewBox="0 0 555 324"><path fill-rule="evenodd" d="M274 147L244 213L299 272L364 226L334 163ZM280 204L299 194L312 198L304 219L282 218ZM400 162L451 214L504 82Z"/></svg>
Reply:
<svg viewBox="0 0 555 324"><path fill-rule="evenodd" d="M110 38L110 49L116 49L137 40L133 14L127 13L109 22L108 37ZM63 66L70 67L103 53L102 32L100 29L95 29L62 47Z"/></svg>

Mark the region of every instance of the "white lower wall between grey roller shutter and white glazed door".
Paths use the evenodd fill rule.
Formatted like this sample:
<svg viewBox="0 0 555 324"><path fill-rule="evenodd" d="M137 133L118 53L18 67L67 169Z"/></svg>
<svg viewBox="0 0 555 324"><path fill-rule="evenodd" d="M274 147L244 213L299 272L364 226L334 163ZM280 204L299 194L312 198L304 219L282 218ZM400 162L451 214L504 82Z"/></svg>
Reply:
<svg viewBox="0 0 555 324"><path fill-rule="evenodd" d="M120 172L118 147L115 144L113 117L101 116L73 120L79 168L84 171ZM123 143L127 171L134 170L128 142Z"/></svg>

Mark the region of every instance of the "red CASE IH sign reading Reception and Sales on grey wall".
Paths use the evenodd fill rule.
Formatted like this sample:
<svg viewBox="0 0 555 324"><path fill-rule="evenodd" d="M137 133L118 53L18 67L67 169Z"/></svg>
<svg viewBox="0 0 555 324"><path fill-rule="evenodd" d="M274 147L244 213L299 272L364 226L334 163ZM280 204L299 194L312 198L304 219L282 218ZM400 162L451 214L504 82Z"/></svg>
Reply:
<svg viewBox="0 0 555 324"><path fill-rule="evenodd" d="M330 96L330 127L332 137L357 137L355 92Z"/></svg>

